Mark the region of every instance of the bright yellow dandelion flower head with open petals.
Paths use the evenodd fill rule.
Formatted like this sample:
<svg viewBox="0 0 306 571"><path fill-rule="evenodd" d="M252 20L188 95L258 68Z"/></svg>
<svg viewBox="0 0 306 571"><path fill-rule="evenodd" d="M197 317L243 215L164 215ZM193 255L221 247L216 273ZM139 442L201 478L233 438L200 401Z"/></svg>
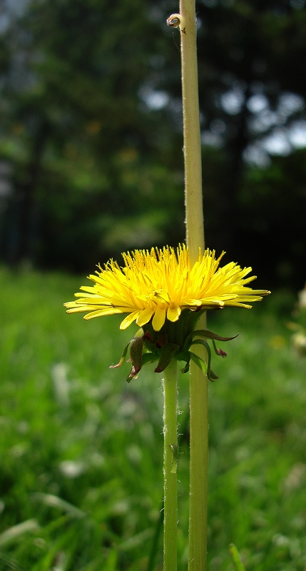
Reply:
<svg viewBox="0 0 306 571"><path fill-rule="evenodd" d="M127 313L121 329L133 321L143 327L152 320L153 329L159 331L165 320L177 321L185 308L251 308L250 302L270 293L247 286L255 280L255 276L245 277L252 268L242 270L234 262L219 268L223 254L216 259L215 251L199 252L191 267L184 244L176 252L167 246L123 253L124 266L113 260L104 269L98 266L96 275L89 276L94 285L83 285L81 290L86 293L76 293L75 301L65 303L67 313L88 312L85 319Z"/></svg>

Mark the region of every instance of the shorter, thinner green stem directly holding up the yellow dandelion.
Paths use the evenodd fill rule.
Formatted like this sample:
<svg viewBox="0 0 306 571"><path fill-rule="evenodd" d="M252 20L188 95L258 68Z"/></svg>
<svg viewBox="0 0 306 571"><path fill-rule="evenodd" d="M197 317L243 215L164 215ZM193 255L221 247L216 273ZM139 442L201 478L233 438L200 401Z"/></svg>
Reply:
<svg viewBox="0 0 306 571"><path fill-rule="evenodd" d="M173 359L163 373L163 571L176 571L178 552L178 365Z"/></svg>

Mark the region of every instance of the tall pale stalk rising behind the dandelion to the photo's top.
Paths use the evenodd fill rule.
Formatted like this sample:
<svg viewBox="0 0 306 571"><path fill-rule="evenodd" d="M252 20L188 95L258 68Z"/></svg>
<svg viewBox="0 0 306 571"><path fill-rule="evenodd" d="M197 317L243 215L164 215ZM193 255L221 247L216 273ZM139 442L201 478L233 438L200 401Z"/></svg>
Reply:
<svg viewBox="0 0 306 571"><path fill-rule="evenodd" d="M205 249L195 0L180 0L186 237L190 265ZM205 328L205 318L197 327ZM205 358L204 349L201 355ZM190 514L188 571L205 571L208 509L208 378L190 366Z"/></svg>

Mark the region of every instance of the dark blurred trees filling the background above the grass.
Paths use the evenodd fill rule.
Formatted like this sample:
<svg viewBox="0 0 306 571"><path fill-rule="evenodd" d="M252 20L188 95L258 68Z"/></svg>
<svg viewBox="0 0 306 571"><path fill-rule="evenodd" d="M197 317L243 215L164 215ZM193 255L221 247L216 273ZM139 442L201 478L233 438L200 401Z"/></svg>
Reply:
<svg viewBox="0 0 306 571"><path fill-rule="evenodd" d="M197 7L207 244L300 286L305 1ZM165 26L177 10L176 0L4 2L3 259L84 271L184 239L180 39Z"/></svg>

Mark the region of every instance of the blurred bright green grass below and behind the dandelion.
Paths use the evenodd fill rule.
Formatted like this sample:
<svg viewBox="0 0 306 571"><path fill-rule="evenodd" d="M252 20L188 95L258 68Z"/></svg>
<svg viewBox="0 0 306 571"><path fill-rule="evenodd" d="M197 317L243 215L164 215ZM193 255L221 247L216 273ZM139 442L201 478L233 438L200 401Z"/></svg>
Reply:
<svg viewBox="0 0 306 571"><path fill-rule="evenodd" d="M79 278L2 268L0 569L145 571L163 497L163 397L150 367L128 385L132 328L66 315ZM292 295L211 313L239 337L210 384L209 571L305 571L305 360L290 347ZM180 431L188 375L180 376ZM179 571L187 568L188 429L179 457ZM159 538L155 570L162 569Z"/></svg>

